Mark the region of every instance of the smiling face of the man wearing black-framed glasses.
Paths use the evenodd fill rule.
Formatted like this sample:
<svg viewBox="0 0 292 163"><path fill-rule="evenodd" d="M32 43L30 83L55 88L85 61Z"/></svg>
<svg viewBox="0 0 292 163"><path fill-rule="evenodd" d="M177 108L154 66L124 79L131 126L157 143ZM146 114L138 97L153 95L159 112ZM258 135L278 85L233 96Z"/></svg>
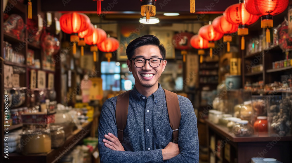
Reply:
<svg viewBox="0 0 292 163"><path fill-rule="evenodd" d="M135 50L135 54L132 58L162 58L159 47L154 45L144 45L138 47ZM164 71L166 66L166 60L160 61L160 65L156 68L153 68L149 65L149 61L146 61L146 64L143 67L136 67L134 61L127 60L129 70L133 73L135 78L135 84L141 85L143 87L152 87L155 84L158 84L158 79L161 76L161 73Z"/></svg>

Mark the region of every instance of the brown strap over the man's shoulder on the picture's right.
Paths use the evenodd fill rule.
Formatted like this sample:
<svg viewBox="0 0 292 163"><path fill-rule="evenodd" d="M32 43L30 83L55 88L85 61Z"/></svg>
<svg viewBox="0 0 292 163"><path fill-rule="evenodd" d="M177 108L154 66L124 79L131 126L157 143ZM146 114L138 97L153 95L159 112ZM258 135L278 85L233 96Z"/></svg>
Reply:
<svg viewBox="0 0 292 163"><path fill-rule="evenodd" d="M172 142L178 143L178 127L180 127L180 105L178 95L163 89L165 92L166 106L170 127L172 128Z"/></svg>

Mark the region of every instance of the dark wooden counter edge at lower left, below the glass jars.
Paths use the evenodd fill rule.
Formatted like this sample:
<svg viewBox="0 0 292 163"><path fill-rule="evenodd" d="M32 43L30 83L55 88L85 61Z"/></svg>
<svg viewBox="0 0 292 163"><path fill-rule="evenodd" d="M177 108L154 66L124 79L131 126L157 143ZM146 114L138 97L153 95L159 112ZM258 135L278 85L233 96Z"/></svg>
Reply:
<svg viewBox="0 0 292 163"><path fill-rule="evenodd" d="M29 155L29 159L27 156L18 154L18 153L9 153L9 161L10 162L22 162L22 163L29 163L29 162L43 162L43 163L55 163L61 159L64 154L69 153L72 148L82 141L90 132L92 122L86 123L82 125L82 129L75 130L72 135L67 137L65 143L56 149L51 149L46 154L36 154L36 155ZM63 151L66 153L62 153ZM68 150L68 151L67 151Z"/></svg>

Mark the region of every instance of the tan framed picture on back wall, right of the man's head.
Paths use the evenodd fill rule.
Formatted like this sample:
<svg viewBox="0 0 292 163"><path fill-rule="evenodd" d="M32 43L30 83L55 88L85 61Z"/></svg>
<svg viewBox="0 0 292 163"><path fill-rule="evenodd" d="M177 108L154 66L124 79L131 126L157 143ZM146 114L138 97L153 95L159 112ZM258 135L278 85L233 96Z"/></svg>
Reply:
<svg viewBox="0 0 292 163"><path fill-rule="evenodd" d="M172 43L174 32L171 30L150 31L150 34L156 36L160 43L164 45L166 49L166 59L174 59L175 49Z"/></svg>

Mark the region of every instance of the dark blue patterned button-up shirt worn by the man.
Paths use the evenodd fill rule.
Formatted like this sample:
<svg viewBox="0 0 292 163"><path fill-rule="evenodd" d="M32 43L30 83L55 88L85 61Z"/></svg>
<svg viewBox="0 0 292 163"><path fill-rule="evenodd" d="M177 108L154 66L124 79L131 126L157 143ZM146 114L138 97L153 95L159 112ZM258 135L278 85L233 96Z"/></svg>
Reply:
<svg viewBox="0 0 292 163"><path fill-rule="evenodd" d="M109 98L102 106L98 127L98 149L101 162L199 162L197 118L188 98L178 95L180 127L178 146L180 154L163 161L161 149L172 141L165 93L159 88L148 98L135 88L130 92L127 124L122 145L125 151L114 151L104 145L102 139L109 132L117 137L117 96Z"/></svg>

